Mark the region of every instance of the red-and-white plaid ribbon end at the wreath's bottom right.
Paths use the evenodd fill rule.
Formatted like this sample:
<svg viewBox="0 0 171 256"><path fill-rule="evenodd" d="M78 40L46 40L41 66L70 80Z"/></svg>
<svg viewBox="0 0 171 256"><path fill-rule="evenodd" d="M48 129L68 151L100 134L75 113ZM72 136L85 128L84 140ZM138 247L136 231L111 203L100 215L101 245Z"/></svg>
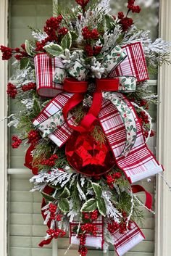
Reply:
<svg viewBox="0 0 171 256"><path fill-rule="evenodd" d="M118 256L125 255L131 248L135 247L136 244L140 243L145 239L142 231L135 222L132 223L131 230L125 231L125 234L120 234L117 230L113 234L114 248Z"/></svg>

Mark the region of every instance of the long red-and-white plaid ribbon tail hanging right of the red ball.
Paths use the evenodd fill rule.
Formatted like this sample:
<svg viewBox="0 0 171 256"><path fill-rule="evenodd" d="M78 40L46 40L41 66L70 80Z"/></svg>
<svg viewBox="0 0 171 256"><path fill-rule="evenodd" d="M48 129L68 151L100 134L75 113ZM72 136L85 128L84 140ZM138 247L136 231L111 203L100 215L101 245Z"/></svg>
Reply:
<svg viewBox="0 0 171 256"><path fill-rule="evenodd" d="M119 93L117 95L119 96ZM117 108L112 102L104 100L101 112L99 113L99 121L107 136L117 166L125 173L130 183L135 183L143 178L148 178L162 172L163 168L146 146L141 123L138 120L133 105L125 95L120 94L120 97L122 97L133 113L137 128L135 144L127 157L120 155L125 142L125 126L122 118L117 114Z"/></svg>

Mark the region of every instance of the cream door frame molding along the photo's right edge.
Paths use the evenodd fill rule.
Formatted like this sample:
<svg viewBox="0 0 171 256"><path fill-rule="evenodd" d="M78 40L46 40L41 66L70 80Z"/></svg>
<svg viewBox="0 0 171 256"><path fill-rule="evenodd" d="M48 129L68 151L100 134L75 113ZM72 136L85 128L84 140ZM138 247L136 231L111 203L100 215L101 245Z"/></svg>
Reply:
<svg viewBox="0 0 171 256"><path fill-rule="evenodd" d="M170 29L171 1L160 1L160 36L171 41ZM159 161L164 165L164 178L171 183L171 65L163 65L159 70L159 111L158 149ZM157 178L156 200L156 246L155 256L169 256L171 252L171 193L161 178Z"/></svg>

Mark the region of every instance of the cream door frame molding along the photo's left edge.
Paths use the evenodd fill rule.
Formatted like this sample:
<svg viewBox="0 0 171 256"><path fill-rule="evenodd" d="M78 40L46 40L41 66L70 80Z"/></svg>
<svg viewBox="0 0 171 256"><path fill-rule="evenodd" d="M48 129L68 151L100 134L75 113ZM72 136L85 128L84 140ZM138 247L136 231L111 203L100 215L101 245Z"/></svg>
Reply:
<svg viewBox="0 0 171 256"><path fill-rule="evenodd" d="M0 45L7 45L8 1L0 1ZM0 54L1 58L1 54ZM7 115L7 62L0 60L0 119ZM7 255L7 124L0 122L0 255Z"/></svg>

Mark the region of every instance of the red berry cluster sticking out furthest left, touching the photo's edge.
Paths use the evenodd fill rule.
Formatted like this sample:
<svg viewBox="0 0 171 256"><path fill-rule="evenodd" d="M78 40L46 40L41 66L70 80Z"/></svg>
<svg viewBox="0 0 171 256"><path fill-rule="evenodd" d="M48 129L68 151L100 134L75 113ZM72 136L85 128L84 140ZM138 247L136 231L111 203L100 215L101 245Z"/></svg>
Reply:
<svg viewBox="0 0 171 256"><path fill-rule="evenodd" d="M6 46L0 46L0 51L2 52L2 59L8 60L12 57L13 54L16 54L14 57L17 60L22 59L22 57L28 57L28 54L25 50L25 44L21 45L23 51L20 48L9 48Z"/></svg>

